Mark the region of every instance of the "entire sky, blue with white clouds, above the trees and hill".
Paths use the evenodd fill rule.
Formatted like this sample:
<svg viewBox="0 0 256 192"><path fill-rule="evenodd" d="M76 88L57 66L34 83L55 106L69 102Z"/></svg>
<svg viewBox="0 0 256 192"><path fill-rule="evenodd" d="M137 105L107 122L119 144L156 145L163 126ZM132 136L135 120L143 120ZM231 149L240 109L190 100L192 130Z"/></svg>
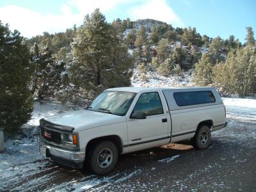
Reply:
<svg viewBox="0 0 256 192"><path fill-rule="evenodd" d="M113 19L157 19L175 27L195 27L201 35L244 42L246 26L256 30L256 1L253 0L1 0L0 20L24 36L44 31L55 33L78 26L95 8Z"/></svg>

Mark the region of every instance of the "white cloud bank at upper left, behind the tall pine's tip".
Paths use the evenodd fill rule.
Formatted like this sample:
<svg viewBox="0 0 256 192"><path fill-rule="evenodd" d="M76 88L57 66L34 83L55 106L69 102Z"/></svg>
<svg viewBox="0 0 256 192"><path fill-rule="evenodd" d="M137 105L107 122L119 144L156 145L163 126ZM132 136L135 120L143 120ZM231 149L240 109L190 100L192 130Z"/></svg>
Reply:
<svg viewBox="0 0 256 192"><path fill-rule="evenodd" d="M10 29L17 29L21 35L26 37L41 35L44 31L57 33L72 28L74 24L83 23L84 15L90 14L95 8L100 8L103 13L115 8L116 4L127 0L68 0L61 5L60 15L47 14L42 15L39 12L33 12L20 6L8 5L0 7L0 20L8 23ZM72 10L78 10L72 13Z"/></svg>

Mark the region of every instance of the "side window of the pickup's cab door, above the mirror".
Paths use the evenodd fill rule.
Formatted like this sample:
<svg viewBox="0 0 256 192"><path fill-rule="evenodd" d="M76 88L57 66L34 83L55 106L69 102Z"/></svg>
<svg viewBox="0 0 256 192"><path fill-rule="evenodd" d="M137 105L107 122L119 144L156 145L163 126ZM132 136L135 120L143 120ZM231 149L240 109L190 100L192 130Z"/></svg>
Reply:
<svg viewBox="0 0 256 192"><path fill-rule="evenodd" d="M133 112L140 111L150 115L163 114L163 106L157 92L142 93L134 106Z"/></svg>

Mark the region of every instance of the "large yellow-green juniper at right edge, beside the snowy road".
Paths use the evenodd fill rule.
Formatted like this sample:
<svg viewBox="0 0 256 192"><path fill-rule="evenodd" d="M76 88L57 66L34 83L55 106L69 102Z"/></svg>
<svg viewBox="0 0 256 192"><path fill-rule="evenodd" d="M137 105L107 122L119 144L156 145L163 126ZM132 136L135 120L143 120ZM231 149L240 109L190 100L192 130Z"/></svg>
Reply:
<svg viewBox="0 0 256 192"><path fill-rule="evenodd" d="M256 93L256 47L248 45L229 52L225 63L214 67L214 81L226 93L249 96Z"/></svg>

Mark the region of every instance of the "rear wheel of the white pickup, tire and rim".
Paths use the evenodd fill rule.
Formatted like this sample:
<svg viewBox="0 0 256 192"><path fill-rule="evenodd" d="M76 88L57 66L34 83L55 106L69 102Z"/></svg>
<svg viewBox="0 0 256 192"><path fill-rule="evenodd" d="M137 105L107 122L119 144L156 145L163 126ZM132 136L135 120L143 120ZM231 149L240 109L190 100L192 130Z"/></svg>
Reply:
<svg viewBox="0 0 256 192"><path fill-rule="evenodd" d="M211 141L211 131L207 125L202 125L196 130L196 134L191 138L191 143L196 149L209 147Z"/></svg>

